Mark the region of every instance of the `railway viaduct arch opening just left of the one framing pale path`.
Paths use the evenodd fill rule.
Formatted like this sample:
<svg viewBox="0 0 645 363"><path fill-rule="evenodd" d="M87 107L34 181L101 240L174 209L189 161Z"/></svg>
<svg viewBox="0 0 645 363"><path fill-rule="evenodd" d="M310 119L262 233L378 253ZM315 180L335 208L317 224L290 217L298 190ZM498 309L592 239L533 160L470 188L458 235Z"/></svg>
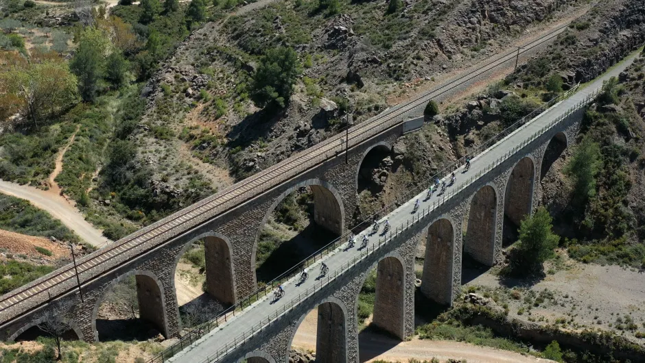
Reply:
<svg viewBox="0 0 645 363"><path fill-rule="evenodd" d="M149 275L128 275L108 286L97 303L99 341L167 337L163 293Z"/></svg>

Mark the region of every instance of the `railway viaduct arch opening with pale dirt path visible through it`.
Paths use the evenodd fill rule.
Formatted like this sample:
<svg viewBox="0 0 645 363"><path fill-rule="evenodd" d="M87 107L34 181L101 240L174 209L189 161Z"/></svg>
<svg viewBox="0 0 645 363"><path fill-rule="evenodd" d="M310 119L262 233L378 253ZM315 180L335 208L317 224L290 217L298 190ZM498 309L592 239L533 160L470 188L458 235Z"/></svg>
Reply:
<svg viewBox="0 0 645 363"><path fill-rule="evenodd" d="M216 236L191 242L176 266L174 282L183 328L214 318L235 303L231 247Z"/></svg>

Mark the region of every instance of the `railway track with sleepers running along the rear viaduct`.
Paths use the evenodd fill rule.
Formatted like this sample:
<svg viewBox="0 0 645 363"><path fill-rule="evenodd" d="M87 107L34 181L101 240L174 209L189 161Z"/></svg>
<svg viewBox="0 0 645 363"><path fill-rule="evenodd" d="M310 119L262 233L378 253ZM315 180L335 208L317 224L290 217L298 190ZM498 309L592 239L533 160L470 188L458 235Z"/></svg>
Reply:
<svg viewBox="0 0 645 363"><path fill-rule="evenodd" d="M561 34L567 27L568 24L563 25L545 36L528 43L519 54L524 54L549 42ZM347 136L343 134L332 136L320 142L318 145L314 145L314 147L292 155L292 157L279 162L275 166L261 171L252 177L248 177L242 182L234 184L212 197L199 201L103 249L99 249L95 253L85 256L78 261L77 265L78 274L82 277L81 284L97 278L102 273L106 273L106 271L110 271L110 269L128 260L127 253L133 251L135 248L141 249L141 252L137 255L143 255L151 249L159 247L159 245L172 237L178 236L184 231L213 218L213 216L236 208L246 201L253 199L253 197L257 197L263 192L274 188L274 186L278 186L303 171L309 170L312 166L324 162L329 158L333 158L338 153L346 152L347 149L359 145L364 140L368 140L384 132L386 129L399 125L408 112L421 105L425 105L430 99L434 99L450 90L458 88L462 84L476 79L480 75L497 68L497 66L514 60L515 56L515 51L501 55L499 58L478 68L476 71L454 77L454 79L451 79L443 86L425 95L421 95L408 103L390 108L382 114L352 127L349 129ZM349 148L347 145L349 145ZM117 257L121 257L122 260L117 261ZM60 268L58 271L54 271L54 273L33 281L31 284L1 296L1 324L5 324L16 318L16 316L25 314L25 312L47 303L50 299L60 297L75 290L78 287L75 276L74 267L69 264ZM21 305L21 307L18 307L18 305Z"/></svg>

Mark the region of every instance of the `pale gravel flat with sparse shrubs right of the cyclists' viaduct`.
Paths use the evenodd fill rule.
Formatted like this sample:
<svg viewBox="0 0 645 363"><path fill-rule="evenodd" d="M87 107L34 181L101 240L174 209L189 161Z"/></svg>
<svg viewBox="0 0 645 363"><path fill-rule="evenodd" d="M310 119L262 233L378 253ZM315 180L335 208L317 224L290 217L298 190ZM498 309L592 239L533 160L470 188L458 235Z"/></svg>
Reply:
<svg viewBox="0 0 645 363"><path fill-rule="evenodd" d="M645 339L634 338L636 331L645 331L645 273L581 264L563 252L559 255L558 262L546 264L549 273L541 281L500 279L487 271L467 286L482 286L480 293L497 295L497 303L508 303L513 318L545 325L559 323L565 329L606 329L645 344Z"/></svg>

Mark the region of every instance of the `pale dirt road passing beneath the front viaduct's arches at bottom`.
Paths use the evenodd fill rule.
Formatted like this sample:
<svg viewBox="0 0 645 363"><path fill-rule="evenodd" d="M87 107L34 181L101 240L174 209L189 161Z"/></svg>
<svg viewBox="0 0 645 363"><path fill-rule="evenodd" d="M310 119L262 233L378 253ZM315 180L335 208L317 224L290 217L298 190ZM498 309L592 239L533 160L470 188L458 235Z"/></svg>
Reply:
<svg viewBox="0 0 645 363"><path fill-rule="evenodd" d="M302 350L316 350L317 314L315 309L307 314L303 323L298 327L292 347ZM367 331L362 331L358 339L360 362L374 362L375 360L408 362L412 358L430 360L433 357L438 358L441 362L445 362L449 358L467 360L468 363L552 362L511 351L448 340L419 340L413 338L408 342L399 342Z"/></svg>

